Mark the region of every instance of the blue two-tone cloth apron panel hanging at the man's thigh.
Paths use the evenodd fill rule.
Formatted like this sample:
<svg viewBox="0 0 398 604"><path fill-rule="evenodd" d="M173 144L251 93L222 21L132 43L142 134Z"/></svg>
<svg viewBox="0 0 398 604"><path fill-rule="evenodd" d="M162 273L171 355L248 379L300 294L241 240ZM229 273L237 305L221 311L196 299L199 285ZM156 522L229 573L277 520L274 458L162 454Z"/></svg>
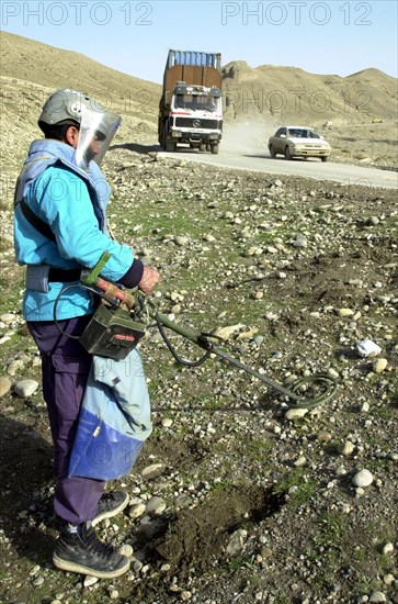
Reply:
<svg viewBox="0 0 398 604"><path fill-rule="evenodd" d="M152 430L140 354L93 356L69 461L69 477L115 480L127 474Z"/></svg>

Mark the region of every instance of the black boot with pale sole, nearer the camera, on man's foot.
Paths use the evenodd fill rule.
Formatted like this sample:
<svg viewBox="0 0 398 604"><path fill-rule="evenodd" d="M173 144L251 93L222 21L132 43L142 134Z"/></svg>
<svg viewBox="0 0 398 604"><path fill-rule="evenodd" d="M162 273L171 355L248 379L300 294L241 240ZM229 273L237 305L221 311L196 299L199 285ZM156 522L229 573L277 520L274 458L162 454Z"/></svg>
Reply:
<svg viewBox="0 0 398 604"><path fill-rule="evenodd" d="M92 574L100 579L120 577L129 567L129 560L125 556L98 539L90 523L62 527L53 562L58 569Z"/></svg>

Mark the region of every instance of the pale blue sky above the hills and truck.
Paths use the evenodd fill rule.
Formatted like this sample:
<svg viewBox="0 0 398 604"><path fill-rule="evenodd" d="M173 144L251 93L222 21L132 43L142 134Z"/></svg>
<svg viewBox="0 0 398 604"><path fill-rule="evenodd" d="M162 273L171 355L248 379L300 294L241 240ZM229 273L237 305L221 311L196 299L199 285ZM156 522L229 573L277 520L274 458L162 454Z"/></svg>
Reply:
<svg viewBox="0 0 398 604"><path fill-rule="evenodd" d="M221 64L397 77L396 0L2 0L1 30L161 83L170 48Z"/></svg>

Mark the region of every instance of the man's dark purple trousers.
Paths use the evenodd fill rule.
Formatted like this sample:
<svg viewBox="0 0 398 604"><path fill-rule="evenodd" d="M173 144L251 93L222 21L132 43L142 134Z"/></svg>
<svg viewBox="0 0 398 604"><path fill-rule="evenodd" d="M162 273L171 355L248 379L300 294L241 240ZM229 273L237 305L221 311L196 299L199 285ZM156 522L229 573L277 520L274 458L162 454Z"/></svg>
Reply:
<svg viewBox="0 0 398 604"><path fill-rule="evenodd" d="M58 321L65 334L80 336L92 315ZM81 524L96 514L105 483L99 480L68 478L68 466L80 405L89 377L91 355L59 332L53 321L27 323L42 357L43 395L47 404L54 446L54 471L57 486L55 513L64 521Z"/></svg>

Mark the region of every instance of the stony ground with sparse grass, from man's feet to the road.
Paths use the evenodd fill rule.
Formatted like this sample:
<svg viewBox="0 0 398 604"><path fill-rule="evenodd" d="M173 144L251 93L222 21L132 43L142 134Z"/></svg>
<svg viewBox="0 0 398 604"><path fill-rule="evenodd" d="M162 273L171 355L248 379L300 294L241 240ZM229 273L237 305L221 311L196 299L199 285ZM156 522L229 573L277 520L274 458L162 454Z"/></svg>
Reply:
<svg viewBox="0 0 398 604"><path fill-rule="evenodd" d="M10 166L9 178L14 166ZM52 564L57 525L39 363L20 314L10 188L1 206L0 602L398 603L396 191L109 154L116 238L157 266L157 303L224 336L285 387L323 372L311 410L211 358L141 344L153 433L99 533L130 556L114 581ZM11 176L10 176L11 175ZM357 343L379 347L362 357ZM180 354L202 351L172 336ZM311 389L303 392L310 395Z"/></svg>

